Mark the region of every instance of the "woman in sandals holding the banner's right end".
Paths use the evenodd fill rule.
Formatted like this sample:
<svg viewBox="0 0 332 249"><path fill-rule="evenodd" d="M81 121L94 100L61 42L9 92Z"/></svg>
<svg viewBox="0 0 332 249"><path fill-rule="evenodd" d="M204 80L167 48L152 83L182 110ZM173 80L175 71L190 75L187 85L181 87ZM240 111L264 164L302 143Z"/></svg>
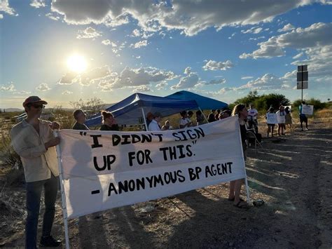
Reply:
<svg viewBox="0 0 332 249"><path fill-rule="evenodd" d="M240 133L242 141L242 149L244 154L244 160L247 159L247 128L245 125L245 120L247 119L248 111L245 105L239 104L235 105L232 116L237 115L240 124ZM240 191L244 180L234 180L230 182L230 192L228 195L228 201L234 201L234 206L236 208L248 209L249 205L246 201L240 198Z"/></svg>

